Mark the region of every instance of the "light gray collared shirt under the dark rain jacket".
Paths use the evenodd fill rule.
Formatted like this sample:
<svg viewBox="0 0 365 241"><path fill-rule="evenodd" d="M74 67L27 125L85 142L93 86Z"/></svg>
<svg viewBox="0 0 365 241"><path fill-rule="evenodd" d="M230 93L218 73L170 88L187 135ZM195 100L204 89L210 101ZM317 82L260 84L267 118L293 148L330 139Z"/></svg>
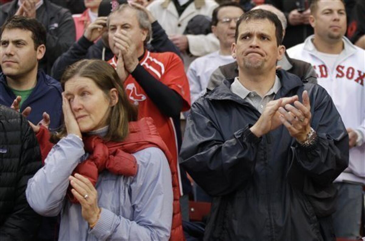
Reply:
<svg viewBox="0 0 365 241"><path fill-rule="evenodd" d="M281 83L279 78L275 77L275 82L273 87L269 89L269 91L265 94L264 97L261 97L255 91L249 91L246 87L244 87L241 82L239 82L238 77L235 77L233 83L231 84L231 91L241 97L243 100L246 100L252 106L254 106L261 114L264 110L265 106L269 101L273 100L276 93L281 88Z"/></svg>

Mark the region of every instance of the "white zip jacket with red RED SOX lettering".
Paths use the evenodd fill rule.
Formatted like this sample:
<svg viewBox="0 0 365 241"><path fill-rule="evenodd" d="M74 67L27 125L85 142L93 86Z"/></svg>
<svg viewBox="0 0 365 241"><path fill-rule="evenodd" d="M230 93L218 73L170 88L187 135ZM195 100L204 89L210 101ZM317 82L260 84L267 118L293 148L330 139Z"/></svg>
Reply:
<svg viewBox="0 0 365 241"><path fill-rule="evenodd" d="M349 167L336 181L365 184L365 51L343 37L345 47L335 62L334 69L330 69L320 59L312 38L314 35L287 52L291 58L313 65L318 84L332 97L345 127L357 130L362 135L360 146L350 149Z"/></svg>

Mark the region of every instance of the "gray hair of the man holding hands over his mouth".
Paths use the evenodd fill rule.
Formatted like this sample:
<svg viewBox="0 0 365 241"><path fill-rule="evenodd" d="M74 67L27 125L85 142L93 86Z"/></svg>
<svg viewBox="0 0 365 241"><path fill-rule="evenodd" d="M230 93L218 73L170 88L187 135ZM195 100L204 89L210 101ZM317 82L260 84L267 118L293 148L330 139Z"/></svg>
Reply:
<svg viewBox="0 0 365 241"><path fill-rule="evenodd" d="M124 11L126 8L134 9L137 12L139 27L142 28L143 30L147 30L147 36L146 36L145 41L143 42L144 45L146 46L152 36L152 27L151 27L150 20L148 19L147 13L142 11L141 9L135 8L127 3L120 4L119 7L114 9L109 14L108 19L107 19L107 27L109 28L109 22L110 22L111 16L116 13L120 13L120 12Z"/></svg>

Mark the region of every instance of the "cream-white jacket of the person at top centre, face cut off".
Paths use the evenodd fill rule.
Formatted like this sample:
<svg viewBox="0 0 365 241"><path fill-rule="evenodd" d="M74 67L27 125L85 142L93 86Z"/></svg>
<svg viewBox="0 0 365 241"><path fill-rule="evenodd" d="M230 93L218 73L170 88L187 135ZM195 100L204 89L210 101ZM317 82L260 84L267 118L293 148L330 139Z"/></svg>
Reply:
<svg viewBox="0 0 365 241"><path fill-rule="evenodd" d="M171 0L154 0L147 6L147 9L151 11L166 33L171 35L183 34L189 20L198 14L212 17L213 10L216 7L218 7L218 4L214 0L195 0L189 4L180 17ZM189 42L189 51L193 56L204 56L219 50L219 41L212 33L186 36Z"/></svg>

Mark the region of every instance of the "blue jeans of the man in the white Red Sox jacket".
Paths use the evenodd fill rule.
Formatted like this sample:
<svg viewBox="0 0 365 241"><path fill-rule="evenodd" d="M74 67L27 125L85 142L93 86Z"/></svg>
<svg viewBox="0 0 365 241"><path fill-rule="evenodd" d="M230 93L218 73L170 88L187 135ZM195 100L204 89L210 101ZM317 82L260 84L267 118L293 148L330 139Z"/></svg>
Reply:
<svg viewBox="0 0 365 241"><path fill-rule="evenodd" d="M358 239L363 191L361 184L334 183L338 190L336 211L332 215L336 237Z"/></svg>

